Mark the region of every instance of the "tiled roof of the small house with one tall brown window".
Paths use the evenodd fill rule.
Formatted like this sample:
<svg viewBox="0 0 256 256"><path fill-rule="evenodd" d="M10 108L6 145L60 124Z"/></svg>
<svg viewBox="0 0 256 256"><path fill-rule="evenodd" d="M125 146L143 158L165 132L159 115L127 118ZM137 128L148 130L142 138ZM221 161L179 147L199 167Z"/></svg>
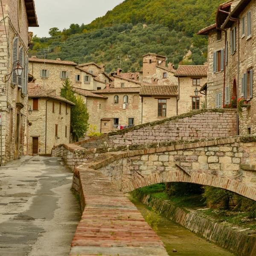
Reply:
<svg viewBox="0 0 256 256"><path fill-rule="evenodd" d="M143 85L140 89L141 96L177 96L177 85Z"/></svg>

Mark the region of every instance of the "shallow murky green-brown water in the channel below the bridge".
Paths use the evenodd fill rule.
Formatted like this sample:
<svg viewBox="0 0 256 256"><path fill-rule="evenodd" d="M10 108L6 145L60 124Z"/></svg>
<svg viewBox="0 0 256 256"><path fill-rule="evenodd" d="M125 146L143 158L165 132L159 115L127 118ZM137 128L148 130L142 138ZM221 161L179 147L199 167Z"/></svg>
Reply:
<svg viewBox="0 0 256 256"><path fill-rule="evenodd" d="M148 213L147 207L136 198L129 196L130 201L137 207L143 217ZM163 241L169 255L175 256L233 256L215 244L196 236L194 233L176 224L174 221L160 217L157 235ZM177 252L173 253L175 249Z"/></svg>

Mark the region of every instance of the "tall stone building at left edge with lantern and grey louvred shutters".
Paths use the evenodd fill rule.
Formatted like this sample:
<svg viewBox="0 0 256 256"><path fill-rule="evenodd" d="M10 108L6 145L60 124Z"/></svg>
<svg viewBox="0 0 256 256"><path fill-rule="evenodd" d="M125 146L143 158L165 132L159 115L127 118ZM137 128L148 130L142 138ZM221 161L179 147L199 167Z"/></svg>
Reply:
<svg viewBox="0 0 256 256"><path fill-rule="evenodd" d="M28 27L38 26L33 0L2 0L0 63L0 165L26 154ZM17 76L17 64L23 68Z"/></svg>

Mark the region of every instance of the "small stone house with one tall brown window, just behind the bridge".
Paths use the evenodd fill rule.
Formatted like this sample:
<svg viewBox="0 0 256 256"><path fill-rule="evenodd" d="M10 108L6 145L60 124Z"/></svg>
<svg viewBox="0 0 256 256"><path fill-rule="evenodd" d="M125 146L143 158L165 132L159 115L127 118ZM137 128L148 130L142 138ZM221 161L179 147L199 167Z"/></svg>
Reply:
<svg viewBox="0 0 256 256"><path fill-rule="evenodd" d="M142 85L142 123L177 115L177 85Z"/></svg>

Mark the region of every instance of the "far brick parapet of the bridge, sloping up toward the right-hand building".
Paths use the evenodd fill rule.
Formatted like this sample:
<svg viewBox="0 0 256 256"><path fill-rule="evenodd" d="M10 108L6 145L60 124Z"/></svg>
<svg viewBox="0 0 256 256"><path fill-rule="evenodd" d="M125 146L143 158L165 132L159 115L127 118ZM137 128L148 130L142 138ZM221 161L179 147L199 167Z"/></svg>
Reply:
<svg viewBox="0 0 256 256"><path fill-rule="evenodd" d="M197 138L228 137L236 135L236 111L202 109L160 121L145 123L105 137L78 143L84 148L108 148L139 144L164 143L170 140L192 140Z"/></svg>

